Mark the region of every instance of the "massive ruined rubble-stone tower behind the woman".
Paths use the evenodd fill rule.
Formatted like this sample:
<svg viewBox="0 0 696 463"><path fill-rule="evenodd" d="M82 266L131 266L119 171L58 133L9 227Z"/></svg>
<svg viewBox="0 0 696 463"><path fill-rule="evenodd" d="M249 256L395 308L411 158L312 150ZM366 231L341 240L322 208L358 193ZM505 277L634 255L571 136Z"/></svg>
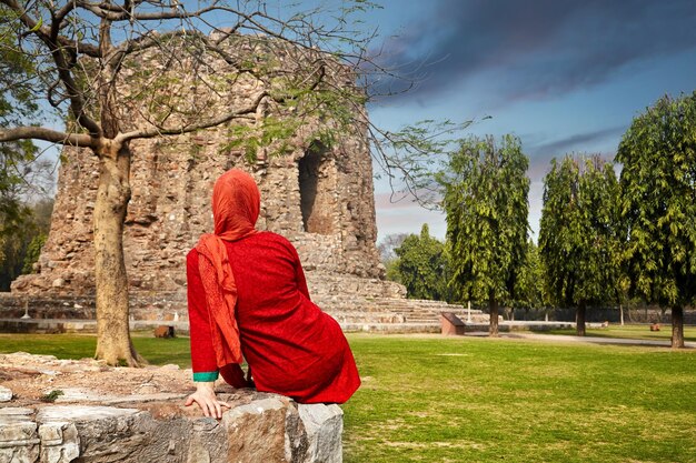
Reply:
<svg viewBox="0 0 696 463"><path fill-rule="evenodd" d="M297 66L291 54L280 52L280 66ZM150 60L152 69L161 68L153 57L143 60ZM210 66L215 69L219 63ZM341 72L335 70L331 79L345 79ZM133 82L121 87L136 87L138 76L133 70ZM216 100L202 93L197 82L187 83L186 73L182 76L188 98L210 100L211 108L220 111L229 104L243 107L262 85L270 85L236 80ZM132 114L147 112L132 104ZM237 167L251 173L259 184L258 228L295 243L312 293L330 294L342 290L345 283L362 296L402 295L402 288L382 282L384 266L375 246L372 169L362 109L354 111L355 123L341 125L330 145L307 134L336 131L338 123L307 118L281 154L274 154L274 145L261 147L250 162L247 153L230 142L240 127L255 129L269 118L290 120L292 113L268 100L237 125L131 142L132 197L123 245L132 291L185 293L186 254L200 234L212 229L212 184L221 173ZM133 117L129 123L137 128L143 120ZM62 159L48 241L37 273L12 283L16 294L93 294L92 211L99 167L96 157L83 149L67 148Z"/></svg>

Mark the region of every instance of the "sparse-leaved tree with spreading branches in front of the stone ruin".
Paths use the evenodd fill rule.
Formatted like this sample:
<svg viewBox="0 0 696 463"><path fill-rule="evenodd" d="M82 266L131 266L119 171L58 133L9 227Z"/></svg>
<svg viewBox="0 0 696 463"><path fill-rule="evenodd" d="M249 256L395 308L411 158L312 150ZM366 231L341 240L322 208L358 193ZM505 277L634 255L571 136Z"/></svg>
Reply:
<svg viewBox="0 0 696 463"><path fill-rule="evenodd" d="M365 85L379 76L396 77L370 52L372 31L361 32L352 21L371 8L366 1L341 2L335 16L294 6L270 9L260 0L0 0L0 6L8 31L3 46L22 66L32 63L13 91L40 98L66 122L56 130L24 114L0 127L0 142L39 139L80 147L80 155L99 161L96 356L110 364L142 362L128 332L122 249L131 142L227 124L230 147L243 148L253 161L269 145L281 153L290 139L330 144L341 131L359 130L372 134L389 172L400 170L394 153L425 153L434 145L418 142L420 132L412 128L380 131L365 119L365 102L378 97ZM216 27L220 21L229 28ZM229 94L241 87L258 91L250 99ZM292 117L265 117L269 108ZM334 122L307 133L308 120Z"/></svg>

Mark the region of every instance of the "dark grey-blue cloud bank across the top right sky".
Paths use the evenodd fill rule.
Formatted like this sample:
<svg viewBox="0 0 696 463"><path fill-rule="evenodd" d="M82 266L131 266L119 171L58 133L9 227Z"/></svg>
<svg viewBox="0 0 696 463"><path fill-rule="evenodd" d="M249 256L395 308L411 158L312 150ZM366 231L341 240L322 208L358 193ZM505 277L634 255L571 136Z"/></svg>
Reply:
<svg viewBox="0 0 696 463"><path fill-rule="evenodd" d="M497 103L541 100L599 84L655 57L696 49L693 0L432 4L429 18L386 44L382 62L419 81L401 98L427 100L478 79L495 89ZM376 90L402 87L387 79ZM389 99L395 100L399 97Z"/></svg>

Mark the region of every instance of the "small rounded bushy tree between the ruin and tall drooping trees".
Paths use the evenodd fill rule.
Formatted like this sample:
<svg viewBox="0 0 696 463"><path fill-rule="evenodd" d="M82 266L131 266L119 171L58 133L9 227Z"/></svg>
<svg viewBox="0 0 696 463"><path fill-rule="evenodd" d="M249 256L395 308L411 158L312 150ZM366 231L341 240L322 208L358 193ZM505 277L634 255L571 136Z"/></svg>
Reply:
<svg viewBox="0 0 696 463"><path fill-rule="evenodd" d="M430 236L427 223L420 229L420 235L407 235L395 252L398 256L395 266L409 298L435 301L451 299L447 290L445 244Z"/></svg>

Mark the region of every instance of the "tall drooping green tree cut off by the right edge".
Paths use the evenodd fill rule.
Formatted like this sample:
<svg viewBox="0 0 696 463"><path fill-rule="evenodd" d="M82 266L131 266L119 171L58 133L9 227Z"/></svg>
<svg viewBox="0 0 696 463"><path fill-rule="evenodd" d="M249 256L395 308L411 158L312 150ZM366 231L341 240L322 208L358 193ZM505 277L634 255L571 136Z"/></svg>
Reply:
<svg viewBox="0 0 696 463"><path fill-rule="evenodd" d="M672 309L672 346L683 348L684 306L696 300L696 92L636 117L616 160L630 291Z"/></svg>

